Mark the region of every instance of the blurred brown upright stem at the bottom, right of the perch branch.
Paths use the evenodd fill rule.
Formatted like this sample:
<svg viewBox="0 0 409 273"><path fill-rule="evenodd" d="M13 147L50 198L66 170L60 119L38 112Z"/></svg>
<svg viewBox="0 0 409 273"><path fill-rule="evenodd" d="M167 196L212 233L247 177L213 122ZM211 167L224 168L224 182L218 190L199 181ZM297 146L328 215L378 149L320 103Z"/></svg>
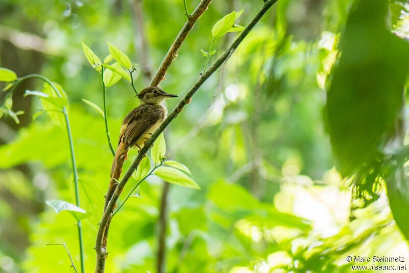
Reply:
<svg viewBox="0 0 409 273"><path fill-rule="evenodd" d="M164 182L161 198L161 213L159 215L159 240L157 248L157 273L164 273L166 259L166 223L167 223L167 199L170 183Z"/></svg>

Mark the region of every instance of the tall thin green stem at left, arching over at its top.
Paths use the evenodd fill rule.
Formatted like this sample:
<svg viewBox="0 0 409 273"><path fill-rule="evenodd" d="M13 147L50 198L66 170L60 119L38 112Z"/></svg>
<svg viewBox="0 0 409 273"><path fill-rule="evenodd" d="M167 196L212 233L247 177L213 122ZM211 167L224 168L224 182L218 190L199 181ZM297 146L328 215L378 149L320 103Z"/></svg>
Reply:
<svg viewBox="0 0 409 273"><path fill-rule="evenodd" d="M13 90L11 92L14 92L14 90L17 88L17 86L20 84L21 81L23 81L25 79L28 79L28 78L39 78L39 79L47 82L54 89L57 96L61 97L61 93L55 87L54 83L51 80L49 80L48 78L46 78L44 76L41 76L39 74L30 74L30 75L19 78L18 82L16 83L16 85L14 86L14 88L13 88ZM66 107L62 108L62 113L64 114L64 117L65 117L65 124L66 124L66 128L67 128L68 139L69 139L69 142L70 142L71 163L73 165L74 185L75 185L75 201L76 201L76 205L80 206L80 196L79 196L79 190L78 190L78 172L77 172L77 165L75 163L74 144L73 144L73 137L72 137L72 134L71 134L70 120L68 118ZM78 220L77 228L78 228L78 240L79 240L79 245L80 245L81 272L85 273L84 247L83 247L83 242L82 242L81 220Z"/></svg>

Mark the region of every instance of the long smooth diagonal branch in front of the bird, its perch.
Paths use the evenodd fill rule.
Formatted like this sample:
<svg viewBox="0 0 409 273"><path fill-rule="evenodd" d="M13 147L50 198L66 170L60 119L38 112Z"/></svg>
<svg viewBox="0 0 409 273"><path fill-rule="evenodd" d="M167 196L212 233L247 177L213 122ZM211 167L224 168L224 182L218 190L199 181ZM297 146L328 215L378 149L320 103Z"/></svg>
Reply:
<svg viewBox="0 0 409 273"><path fill-rule="evenodd" d="M233 41L232 45L226 50L211 66L205 73L203 73L199 79L194 83L194 85L190 88L190 90L186 93L186 95L179 101L177 106L169 113L168 117L162 122L160 127L152 134L146 144L143 146L141 151L139 152L138 156L133 160L131 165L129 166L128 170L123 175L121 181L118 183L115 193L113 193L106 210L102 216L102 219L99 223L95 250L97 253L97 265L96 265L96 273L104 272L105 267L105 258L106 258L106 248L103 246L104 237L107 237L107 233L104 232L105 229L108 228L108 222L111 219L111 215L113 209L116 207L116 202L121 195L124 186L126 185L129 178L132 176L132 173L137 169L138 165L141 163L142 159L148 152L150 146L156 140L156 138L165 130L165 128L169 125L169 123L180 113L184 106L188 104L192 98L192 96L197 92L200 86L205 82L222 64L223 62L230 56L232 52L236 50L236 48L240 45L241 41L247 36L247 34L254 28L254 26L259 22L261 17L267 12L267 10L274 5L278 0L268 0L265 2L263 7L258 11L255 17L251 20L251 22L244 28L244 30L239 34L239 36ZM203 3L203 2L202 2ZM192 15L193 17L193 15ZM161 73L158 73L161 74Z"/></svg>

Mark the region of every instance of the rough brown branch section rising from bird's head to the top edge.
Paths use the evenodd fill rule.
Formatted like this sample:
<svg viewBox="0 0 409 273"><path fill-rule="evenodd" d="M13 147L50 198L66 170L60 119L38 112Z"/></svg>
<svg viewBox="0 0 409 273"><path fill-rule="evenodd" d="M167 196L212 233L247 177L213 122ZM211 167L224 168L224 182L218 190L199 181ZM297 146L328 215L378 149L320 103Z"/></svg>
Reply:
<svg viewBox="0 0 409 273"><path fill-rule="evenodd" d="M153 76L152 81L150 82L151 86L158 86L159 83L165 78L166 71L172 64L172 62L177 57L177 51L180 49L183 41L186 36L188 36L189 31L193 28L196 20L208 9L208 6L212 0L201 0L197 8L190 14L188 20L186 21L183 28L180 30L176 39L173 41L172 46L170 47L168 53L162 61L161 66L157 69L155 76Z"/></svg>

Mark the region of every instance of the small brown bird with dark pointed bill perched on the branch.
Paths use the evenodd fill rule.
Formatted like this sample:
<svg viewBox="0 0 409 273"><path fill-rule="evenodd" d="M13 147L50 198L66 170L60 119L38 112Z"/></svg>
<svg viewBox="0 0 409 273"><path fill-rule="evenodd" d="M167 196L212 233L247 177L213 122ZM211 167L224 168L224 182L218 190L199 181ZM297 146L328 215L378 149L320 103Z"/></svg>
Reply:
<svg viewBox="0 0 409 273"><path fill-rule="evenodd" d="M133 146L142 149L151 134L161 125L168 114L168 110L161 105L161 102L169 97L177 96L153 86L145 88L138 94L141 100L140 106L129 112L122 121L118 148L111 167L111 178L118 157Z"/></svg>

